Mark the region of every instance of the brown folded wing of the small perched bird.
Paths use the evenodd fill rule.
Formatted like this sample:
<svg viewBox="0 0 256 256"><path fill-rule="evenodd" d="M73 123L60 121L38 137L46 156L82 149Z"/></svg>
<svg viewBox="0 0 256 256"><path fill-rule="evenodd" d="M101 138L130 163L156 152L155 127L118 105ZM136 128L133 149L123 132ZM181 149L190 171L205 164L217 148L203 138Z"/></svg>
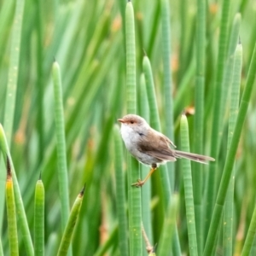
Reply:
<svg viewBox="0 0 256 256"><path fill-rule="evenodd" d="M171 140L158 131L148 130L147 136L144 136L138 143L140 150L160 160L175 161L175 154L169 144Z"/></svg>

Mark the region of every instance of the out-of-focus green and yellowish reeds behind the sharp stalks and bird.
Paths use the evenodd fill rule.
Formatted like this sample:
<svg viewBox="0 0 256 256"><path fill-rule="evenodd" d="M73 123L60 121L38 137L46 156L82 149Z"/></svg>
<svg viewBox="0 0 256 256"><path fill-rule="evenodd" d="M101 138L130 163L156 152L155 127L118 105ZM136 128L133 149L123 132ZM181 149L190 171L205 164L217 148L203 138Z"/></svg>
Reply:
<svg viewBox="0 0 256 256"><path fill-rule="evenodd" d="M22 1L23 2L23 1ZM0 2L0 122L3 128L8 98L7 86L11 62L15 1ZM28 224L33 236L33 196L39 173L45 188L46 255L55 255L61 237L61 203L57 177L54 91L51 67L61 67L63 107L66 127L67 170L70 205L87 184L83 206L73 236L73 255L96 255L108 246L106 255L122 255L118 247L118 220L114 168L113 126L126 114L125 107L125 1L33 1L26 0L20 32L20 59L15 98L14 122L10 136L15 165ZM155 95L163 132L164 118L163 60L160 1L133 1L135 14L137 84L143 73L143 55L148 55L154 74ZM179 121L188 113L190 148L195 148L194 106L196 73L196 1L170 1L172 96L174 137L179 147ZM203 153L210 154L213 90L217 73L218 38L222 1L206 3L205 113ZM240 38L243 50L241 92L256 41L256 2L230 2L229 33L236 13L241 13ZM255 83L254 83L255 84ZM139 86L139 85L138 85ZM236 154L234 197L234 255L240 255L255 205L256 183L256 93L253 89L247 118ZM229 93L224 96L229 102ZM138 113L141 90L138 87ZM227 108L228 109L228 108ZM224 125L218 158L218 181L226 156L229 111L221 113ZM179 147L180 148L180 147ZM124 162L127 151L124 148ZM214 156L215 157L215 156ZM1 190L5 169L1 159ZM149 169L148 169L149 171ZM177 230L182 252L188 255L188 231L185 221L183 177L177 161L174 189L179 193ZM125 172L126 175L126 172ZM152 228L154 245L159 242L164 213L159 210L160 180L151 177ZM194 182L194 181L193 181ZM125 180L126 183L126 180ZM203 189L207 186L207 168L203 171ZM126 183L127 184L127 183ZM129 184L128 184L129 185ZM196 183L195 183L196 186ZM125 188L127 191L127 188ZM1 191L2 193L3 191ZM125 192L126 193L126 192ZM1 194L3 195L3 193ZM126 195L127 196L127 195ZM8 255L6 211L1 197L2 245ZM19 228L19 225L18 225ZM221 236L219 240L221 240ZM216 255L224 255L220 241ZM254 242L254 253L256 243ZM144 247L143 247L144 248ZM26 255L20 240L20 255ZM98 254L101 255L101 254ZM103 255L103 254L102 254ZM252 254L253 255L253 254Z"/></svg>

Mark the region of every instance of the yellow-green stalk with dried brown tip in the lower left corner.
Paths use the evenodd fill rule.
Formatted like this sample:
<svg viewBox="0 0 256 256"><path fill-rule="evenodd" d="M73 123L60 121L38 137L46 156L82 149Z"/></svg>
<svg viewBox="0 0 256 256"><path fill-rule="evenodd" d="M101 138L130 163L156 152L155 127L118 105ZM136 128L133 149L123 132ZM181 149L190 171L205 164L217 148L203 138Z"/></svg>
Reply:
<svg viewBox="0 0 256 256"><path fill-rule="evenodd" d="M11 167L9 164L9 158L6 160L7 166L7 179L5 186L6 195L6 208L7 208L7 222L8 222L8 235L9 235L9 253L12 256L19 255L19 243L16 221L16 209L15 209L15 193L14 184L12 179Z"/></svg>

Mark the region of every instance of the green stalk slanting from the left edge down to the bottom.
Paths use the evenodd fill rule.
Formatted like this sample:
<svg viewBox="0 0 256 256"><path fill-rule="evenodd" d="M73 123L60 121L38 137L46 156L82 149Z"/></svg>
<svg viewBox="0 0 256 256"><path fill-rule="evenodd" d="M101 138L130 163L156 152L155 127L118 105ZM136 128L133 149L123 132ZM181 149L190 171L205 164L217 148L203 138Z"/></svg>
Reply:
<svg viewBox="0 0 256 256"><path fill-rule="evenodd" d="M0 149L3 152L3 155L7 155L9 159L10 169L12 170L12 180L14 183L14 191L15 191L15 207L17 209L17 217L20 224L22 239L26 247L26 254L28 256L33 256L34 248L32 245L32 237L28 229L26 213L25 213L23 201L20 195L20 188L19 188L17 177L16 177L16 173L15 173L15 167L14 167L11 155L9 153L9 146L3 131L3 126L1 124L0 124Z"/></svg>

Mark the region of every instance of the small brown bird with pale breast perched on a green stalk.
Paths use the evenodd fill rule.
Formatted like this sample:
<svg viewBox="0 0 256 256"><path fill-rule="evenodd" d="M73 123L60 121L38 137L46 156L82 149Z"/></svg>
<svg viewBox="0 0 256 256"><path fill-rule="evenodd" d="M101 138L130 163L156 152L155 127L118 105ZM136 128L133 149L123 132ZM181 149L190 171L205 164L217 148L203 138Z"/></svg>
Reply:
<svg viewBox="0 0 256 256"><path fill-rule="evenodd" d="M206 155L173 149L176 146L168 137L155 131L145 119L136 114L127 114L118 121L121 122L120 131L125 147L138 161L151 166L147 177L143 181L138 179L137 183L131 184L132 186L143 186L159 165L166 164L168 161L176 161L177 158L185 158L202 164L207 164L207 161L214 161L212 157Z"/></svg>

